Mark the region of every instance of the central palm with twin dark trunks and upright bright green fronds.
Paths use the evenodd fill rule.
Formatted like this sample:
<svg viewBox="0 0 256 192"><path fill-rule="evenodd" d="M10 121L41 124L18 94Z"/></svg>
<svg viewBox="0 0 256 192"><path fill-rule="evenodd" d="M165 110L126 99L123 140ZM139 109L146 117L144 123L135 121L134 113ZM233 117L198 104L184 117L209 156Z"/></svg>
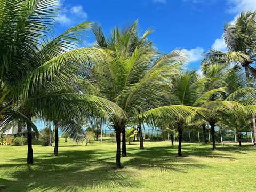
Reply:
<svg viewBox="0 0 256 192"><path fill-rule="evenodd" d="M166 77L178 72L183 57L178 50L165 55L158 54L148 41L147 30L142 37L138 32L138 21L126 29L115 28L110 38L105 38L100 27L94 28L97 46L111 50L106 62L99 62L92 71L91 81L98 87L100 95L121 107L127 118L112 116L116 132L116 167L120 168L121 132L123 156L125 150L125 125L130 118L161 100L163 86L170 82ZM141 131L139 131L141 132ZM142 139L141 139L142 140Z"/></svg>

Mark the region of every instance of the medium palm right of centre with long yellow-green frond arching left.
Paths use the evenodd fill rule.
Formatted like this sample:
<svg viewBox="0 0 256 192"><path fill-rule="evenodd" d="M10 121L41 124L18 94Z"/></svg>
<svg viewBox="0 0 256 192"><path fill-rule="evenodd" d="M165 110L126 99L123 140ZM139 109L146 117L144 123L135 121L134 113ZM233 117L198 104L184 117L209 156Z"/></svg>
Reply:
<svg viewBox="0 0 256 192"><path fill-rule="evenodd" d="M155 116L166 123L170 123L168 120L175 117L179 140L178 156L182 156L181 143L185 126L191 123L191 119L196 114L206 118L210 114L209 99L214 94L224 91L218 88L205 92L205 83L206 79L200 77L195 71L183 73L173 79L173 85L165 97L165 106L143 113L143 117L150 119Z"/></svg>

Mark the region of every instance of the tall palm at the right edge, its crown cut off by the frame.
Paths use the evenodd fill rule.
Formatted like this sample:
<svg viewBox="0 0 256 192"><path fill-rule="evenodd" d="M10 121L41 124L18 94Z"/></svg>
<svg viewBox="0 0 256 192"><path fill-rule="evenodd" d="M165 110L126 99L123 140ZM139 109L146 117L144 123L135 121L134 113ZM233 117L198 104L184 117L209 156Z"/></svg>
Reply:
<svg viewBox="0 0 256 192"><path fill-rule="evenodd" d="M210 50L205 55L203 62L219 62L223 65L238 65L245 70L247 87L252 87L256 78L254 68L256 60L256 12L241 12L234 23L225 25L224 39L228 52ZM250 74L254 81L250 79ZM256 133L255 115L252 115L253 132ZM256 146L256 134L254 134L254 146Z"/></svg>

